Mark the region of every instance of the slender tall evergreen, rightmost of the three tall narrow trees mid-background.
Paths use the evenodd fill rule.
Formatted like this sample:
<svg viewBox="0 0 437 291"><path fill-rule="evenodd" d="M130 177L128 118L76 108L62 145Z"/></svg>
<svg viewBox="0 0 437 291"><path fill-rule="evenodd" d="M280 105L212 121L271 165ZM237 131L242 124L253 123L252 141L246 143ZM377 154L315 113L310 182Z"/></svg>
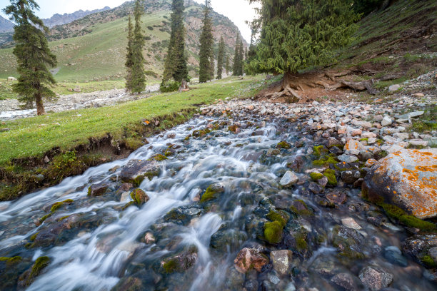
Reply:
<svg viewBox="0 0 437 291"><path fill-rule="evenodd" d="M211 12L211 0L205 0L204 9L204 26L201 31L200 52L199 52L199 82L205 83L211 80L211 58L213 56L214 37L212 34L212 19L209 15Z"/></svg>

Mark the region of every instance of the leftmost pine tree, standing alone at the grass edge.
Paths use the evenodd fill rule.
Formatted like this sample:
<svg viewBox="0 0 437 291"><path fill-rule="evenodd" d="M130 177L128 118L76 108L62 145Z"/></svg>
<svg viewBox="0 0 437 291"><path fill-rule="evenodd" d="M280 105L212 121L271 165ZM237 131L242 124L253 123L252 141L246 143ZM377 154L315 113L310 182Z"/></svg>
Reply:
<svg viewBox="0 0 437 291"><path fill-rule="evenodd" d="M49 29L35 14L39 6L34 0L11 0L11 5L4 9L14 26L14 55L20 74L18 83L14 84L14 93L19 94L19 101L27 106L36 103L36 113L46 114L43 99L54 100L56 94L49 86L56 81L47 65L56 66L56 56L51 53L44 33Z"/></svg>

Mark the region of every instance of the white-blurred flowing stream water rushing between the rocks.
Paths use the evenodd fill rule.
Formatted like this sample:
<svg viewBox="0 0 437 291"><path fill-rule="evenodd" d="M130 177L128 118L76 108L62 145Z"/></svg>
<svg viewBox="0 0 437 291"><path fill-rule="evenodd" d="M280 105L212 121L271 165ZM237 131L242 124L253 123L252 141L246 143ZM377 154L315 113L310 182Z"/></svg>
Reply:
<svg viewBox="0 0 437 291"><path fill-rule="evenodd" d="M236 134L223 126L226 122L226 118L196 118L150 138L147 146L125 160L90 168L54 187L0 203L0 256L23 258L14 272L24 272L36 258L48 256L49 266L24 287L37 291L243 290L245 286L246 290L340 290L330 282L333 275L347 272L357 277L370 264L391 272L398 290L436 290L423 277L427 271L416 262L408 260L405 265L386 259L386 247L401 248L406 233L391 223L381 228L368 223L366 211L374 207L358 198L358 190L347 190L348 203L331 209L315 203L315 195L308 195L305 184L288 190L278 187L287 165L306 153L306 148L292 147L279 154L273 148L280 141L295 143L301 138L311 147L309 133L298 136L296 125L287 121L271 119L264 125L253 116L241 118L241 132ZM218 129L186 141L186 136L209 123ZM124 191L119 190L122 182L117 178L123 166L132 159L147 160L163 153L169 145L174 145L175 155L160 162L161 175L139 185L150 200L141 207L125 208L130 198L121 200ZM310 162L306 160L304 167ZM114 167L119 169L110 171ZM105 195L87 195L89 185L105 181L111 185ZM216 183L224 193L210 203L199 203L199 195ZM36 226L35 221L49 213L51 205L67 199L74 202ZM286 242L275 246L260 240L256 222L267 221L265 215L273 208L289 209L281 205L295 200L303 200L313 215L290 213L284 232L302 228L308 234L308 249L293 254L290 272L279 275L271 265L261 273L236 272L233 260L243 247L258 247L266 255L288 247ZM184 215L167 215L174 208ZM339 257L333 247L336 225L348 217L362 227L358 235L363 239L359 247L364 257L359 259ZM63 221L70 218L74 221L65 227ZM31 237L41 233L46 240L32 242ZM149 233L154 239L147 241ZM164 262L174 257L181 258L184 270L164 268ZM5 290L16 288L17 276L0 277L11 281L3 283Z"/></svg>

